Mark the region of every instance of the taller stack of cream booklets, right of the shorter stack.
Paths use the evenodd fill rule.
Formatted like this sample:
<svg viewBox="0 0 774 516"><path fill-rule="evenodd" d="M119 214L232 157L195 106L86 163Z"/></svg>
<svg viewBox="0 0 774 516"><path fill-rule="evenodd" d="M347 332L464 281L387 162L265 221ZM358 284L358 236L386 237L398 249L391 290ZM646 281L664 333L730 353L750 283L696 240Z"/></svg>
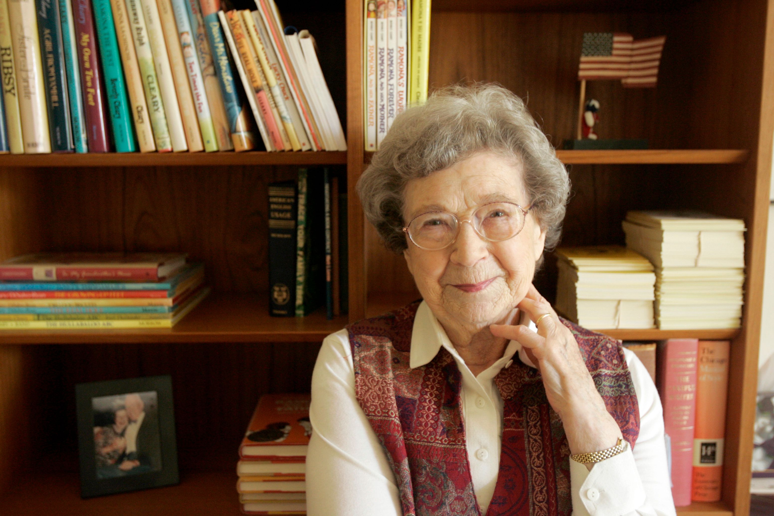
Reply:
<svg viewBox="0 0 774 516"><path fill-rule="evenodd" d="M656 266L663 330L739 328L745 222L694 211L628 212L626 246Z"/></svg>

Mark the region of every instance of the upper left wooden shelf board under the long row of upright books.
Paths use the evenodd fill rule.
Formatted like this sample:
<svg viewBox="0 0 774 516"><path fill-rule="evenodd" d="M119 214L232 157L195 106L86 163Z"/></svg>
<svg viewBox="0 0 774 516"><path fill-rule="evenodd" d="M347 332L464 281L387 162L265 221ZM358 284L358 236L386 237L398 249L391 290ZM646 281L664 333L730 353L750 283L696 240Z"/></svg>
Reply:
<svg viewBox="0 0 774 516"><path fill-rule="evenodd" d="M346 151L335 152L108 152L87 154L5 154L4 167L164 167L230 165L345 165Z"/></svg>

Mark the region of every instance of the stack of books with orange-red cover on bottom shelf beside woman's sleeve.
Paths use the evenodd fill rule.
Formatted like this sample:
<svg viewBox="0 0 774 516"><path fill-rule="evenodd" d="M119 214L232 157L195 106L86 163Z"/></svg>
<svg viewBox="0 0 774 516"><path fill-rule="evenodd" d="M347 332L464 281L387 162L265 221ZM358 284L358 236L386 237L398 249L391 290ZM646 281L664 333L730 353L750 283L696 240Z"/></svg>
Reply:
<svg viewBox="0 0 774 516"><path fill-rule="evenodd" d="M267 394L239 446L237 491L245 514L307 514L308 394Z"/></svg>

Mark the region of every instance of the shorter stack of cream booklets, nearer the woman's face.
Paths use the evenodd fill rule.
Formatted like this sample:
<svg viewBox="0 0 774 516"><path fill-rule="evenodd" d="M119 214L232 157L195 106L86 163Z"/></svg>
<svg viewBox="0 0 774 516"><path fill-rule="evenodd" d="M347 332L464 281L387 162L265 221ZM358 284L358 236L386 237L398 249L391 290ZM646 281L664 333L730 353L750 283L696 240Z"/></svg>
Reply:
<svg viewBox="0 0 774 516"><path fill-rule="evenodd" d="M557 311L587 328L654 328L653 266L622 246L557 250Z"/></svg>

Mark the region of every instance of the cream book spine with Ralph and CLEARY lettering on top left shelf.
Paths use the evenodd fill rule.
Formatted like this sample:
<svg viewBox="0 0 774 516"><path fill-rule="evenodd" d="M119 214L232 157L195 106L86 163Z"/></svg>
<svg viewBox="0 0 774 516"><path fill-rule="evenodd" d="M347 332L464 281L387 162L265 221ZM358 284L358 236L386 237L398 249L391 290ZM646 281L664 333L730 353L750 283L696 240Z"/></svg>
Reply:
<svg viewBox="0 0 774 516"><path fill-rule="evenodd" d="M126 10L129 15L129 25L132 27L135 53L137 53L137 63L142 75L142 87L146 94L150 124L153 128L153 140L156 141L156 150L159 152L171 152L172 138L170 137L170 127L166 124L166 111L164 110L164 101L159 90L159 77L156 76L156 64L153 63L153 51L150 48L148 29L139 0L126 0Z"/></svg>

